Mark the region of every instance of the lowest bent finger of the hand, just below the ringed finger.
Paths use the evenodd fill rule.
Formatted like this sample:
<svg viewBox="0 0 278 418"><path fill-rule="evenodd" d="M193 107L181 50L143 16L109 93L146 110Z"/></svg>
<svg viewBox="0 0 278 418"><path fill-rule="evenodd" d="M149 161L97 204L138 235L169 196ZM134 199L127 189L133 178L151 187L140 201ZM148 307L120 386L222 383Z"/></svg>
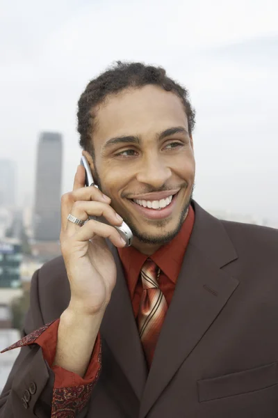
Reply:
<svg viewBox="0 0 278 418"><path fill-rule="evenodd" d="M124 247L126 244L124 239L120 236L120 233L118 233L113 226L102 224L94 219L90 219L90 221L86 222L86 224L76 232L74 240L84 242L92 240L95 235L101 238L108 238L115 247Z"/></svg>

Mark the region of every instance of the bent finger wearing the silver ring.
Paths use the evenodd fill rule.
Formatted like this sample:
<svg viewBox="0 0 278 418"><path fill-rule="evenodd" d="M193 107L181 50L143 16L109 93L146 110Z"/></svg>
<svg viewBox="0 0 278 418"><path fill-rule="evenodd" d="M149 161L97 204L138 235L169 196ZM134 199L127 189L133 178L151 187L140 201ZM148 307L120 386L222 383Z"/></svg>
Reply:
<svg viewBox="0 0 278 418"><path fill-rule="evenodd" d="M88 202L88 201L77 201L72 206L71 214L82 221L86 221L89 216L94 217L105 217L107 221L112 225L121 225L122 217L118 215L111 206L107 203L101 202ZM80 228L79 225L74 224L74 222L67 222L66 231L72 235L76 232L76 228Z"/></svg>

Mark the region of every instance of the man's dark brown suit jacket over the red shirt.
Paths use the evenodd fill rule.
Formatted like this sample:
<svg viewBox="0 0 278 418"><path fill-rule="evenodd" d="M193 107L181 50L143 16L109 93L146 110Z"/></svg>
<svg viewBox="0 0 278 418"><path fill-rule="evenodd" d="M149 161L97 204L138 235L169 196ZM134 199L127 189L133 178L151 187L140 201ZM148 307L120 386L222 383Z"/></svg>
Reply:
<svg viewBox="0 0 278 418"><path fill-rule="evenodd" d="M112 249L117 284L101 324L102 369L79 418L278 417L278 231L220 221L193 206L195 226L149 374ZM33 277L25 334L59 318L69 300L56 258ZM22 348L0 418L50 417L53 381L41 349ZM32 382L37 389L24 409Z"/></svg>

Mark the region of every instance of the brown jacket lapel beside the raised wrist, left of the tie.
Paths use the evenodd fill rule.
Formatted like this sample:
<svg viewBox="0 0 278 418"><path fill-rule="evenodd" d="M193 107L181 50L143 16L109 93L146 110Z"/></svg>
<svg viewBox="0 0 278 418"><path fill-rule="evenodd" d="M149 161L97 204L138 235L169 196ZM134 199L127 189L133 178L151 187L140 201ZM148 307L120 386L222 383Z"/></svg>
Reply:
<svg viewBox="0 0 278 418"><path fill-rule="evenodd" d="M117 363L140 400L147 381L147 364L140 342L129 291L117 249L108 243L117 265L117 282L101 323L106 340Z"/></svg>

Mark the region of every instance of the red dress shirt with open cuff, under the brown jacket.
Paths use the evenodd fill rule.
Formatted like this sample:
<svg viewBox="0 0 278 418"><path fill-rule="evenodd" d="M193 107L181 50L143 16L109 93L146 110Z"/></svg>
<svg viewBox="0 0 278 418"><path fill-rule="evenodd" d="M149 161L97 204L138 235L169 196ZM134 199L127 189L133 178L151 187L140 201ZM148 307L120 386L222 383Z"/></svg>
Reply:
<svg viewBox="0 0 278 418"><path fill-rule="evenodd" d="M194 220L194 210L192 206L190 206L186 220L183 222L183 226L178 235L168 244L159 248L158 251L152 254L152 256L142 254L134 247L118 249L118 253L124 268L126 284L129 288L129 293L132 300L133 313L135 316L138 314L140 299L142 295L142 281L139 280L140 270L148 257L152 258L152 260L161 269L159 286L165 295L167 305L170 305L175 284L181 269L183 256L186 251L191 232L193 230ZM10 346L6 350L25 346L31 343L36 343L42 348L44 359L47 361L49 366L51 366L56 355L58 325L59 320L55 320L53 323L45 325L40 330L24 337L24 339L20 340L18 343L15 343L13 346ZM81 376L77 375L76 373L63 369L60 366L51 366L51 369L55 374L54 392L55 390L62 388L69 389L70 387L73 388L82 385L90 385L92 382L97 380L101 364L100 341L100 335L98 334L97 340L95 342L95 347L92 352L90 364L83 378L81 378Z"/></svg>

